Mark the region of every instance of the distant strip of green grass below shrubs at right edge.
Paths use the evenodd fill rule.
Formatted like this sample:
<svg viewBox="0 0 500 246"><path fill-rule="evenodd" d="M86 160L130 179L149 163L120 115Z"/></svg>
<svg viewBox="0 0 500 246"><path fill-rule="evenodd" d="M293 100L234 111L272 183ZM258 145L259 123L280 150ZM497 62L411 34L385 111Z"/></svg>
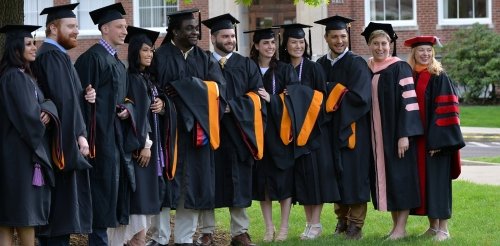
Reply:
<svg viewBox="0 0 500 246"><path fill-rule="evenodd" d="M500 127L500 106L460 106L460 125Z"/></svg>

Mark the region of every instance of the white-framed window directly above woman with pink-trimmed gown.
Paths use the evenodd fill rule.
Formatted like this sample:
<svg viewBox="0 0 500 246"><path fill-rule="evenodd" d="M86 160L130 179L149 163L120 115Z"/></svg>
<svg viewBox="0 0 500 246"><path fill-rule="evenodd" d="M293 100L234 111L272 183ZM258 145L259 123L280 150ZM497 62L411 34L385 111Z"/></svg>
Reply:
<svg viewBox="0 0 500 246"><path fill-rule="evenodd" d="M367 23L388 22L393 26L416 26L415 0L365 0Z"/></svg>

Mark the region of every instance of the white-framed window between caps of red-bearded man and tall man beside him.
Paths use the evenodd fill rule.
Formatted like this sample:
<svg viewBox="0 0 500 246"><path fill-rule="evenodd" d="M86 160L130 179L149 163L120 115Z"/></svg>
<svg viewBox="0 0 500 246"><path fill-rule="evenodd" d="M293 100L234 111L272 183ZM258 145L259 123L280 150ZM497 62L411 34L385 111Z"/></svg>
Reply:
<svg viewBox="0 0 500 246"><path fill-rule="evenodd" d="M97 29L97 25L94 24L90 18L89 12L104 6L114 4L115 0L99 0L99 1L85 1L78 0L72 1L73 3L80 3L76 9L73 11L78 18L78 28L80 29L80 35L99 35L100 32Z"/></svg>

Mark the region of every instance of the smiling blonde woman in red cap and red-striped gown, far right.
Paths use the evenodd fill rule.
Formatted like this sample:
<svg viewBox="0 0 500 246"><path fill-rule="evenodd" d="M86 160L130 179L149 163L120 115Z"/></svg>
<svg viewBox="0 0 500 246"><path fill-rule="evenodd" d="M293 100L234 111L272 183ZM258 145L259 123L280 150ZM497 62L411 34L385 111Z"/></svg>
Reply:
<svg viewBox="0 0 500 246"><path fill-rule="evenodd" d="M412 214L427 215L429 229L424 235L437 241L450 238L448 219L452 211L451 180L460 174L459 149L465 146L460 130L458 96L453 81L435 58L434 36L417 36L404 42L411 47L408 64L424 125L417 138L420 207Z"/></svg>

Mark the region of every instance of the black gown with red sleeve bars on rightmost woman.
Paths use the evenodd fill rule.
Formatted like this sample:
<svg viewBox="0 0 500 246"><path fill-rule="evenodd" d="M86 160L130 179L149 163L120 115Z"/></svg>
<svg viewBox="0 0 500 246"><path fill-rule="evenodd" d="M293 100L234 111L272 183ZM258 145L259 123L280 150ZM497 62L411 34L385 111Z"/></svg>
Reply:
<svg viewBox="0 0 500 246"><path fill-rule="evenodd" d="M442 72L414 73L420 116L425 134L417 138L420 207L412 214L433 219L451 218L453 169L460 168L458 150L465 146L458 118L458 96L450 78ZM430 150L440 150L430 156Z"/></svg>

